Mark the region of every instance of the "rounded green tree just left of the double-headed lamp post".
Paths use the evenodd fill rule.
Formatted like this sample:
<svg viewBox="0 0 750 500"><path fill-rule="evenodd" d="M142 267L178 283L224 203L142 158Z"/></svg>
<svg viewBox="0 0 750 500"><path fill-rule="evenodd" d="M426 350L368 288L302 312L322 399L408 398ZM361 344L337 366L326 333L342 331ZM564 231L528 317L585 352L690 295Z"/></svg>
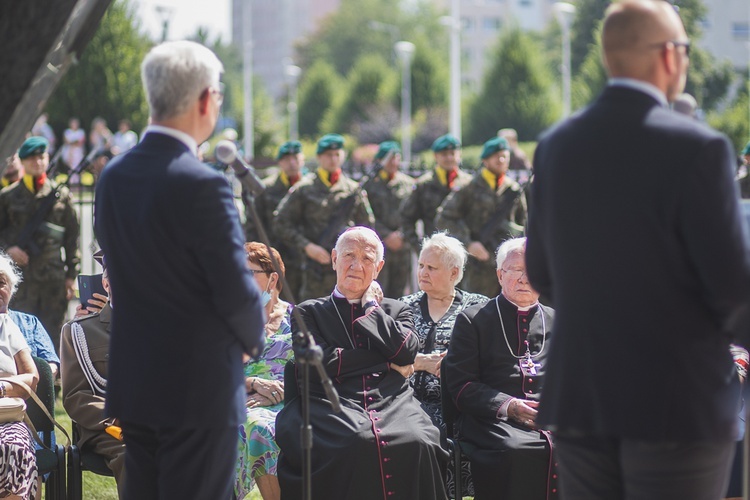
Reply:
<svg viewBox="0 0 750 500"><path fill-rule="evenodd" d="M349 132L352 124L366 121L374 108L387 103L399 81L393 67L375 54L360 57L346 79L344 98L323 119L326 131Z"/></svg>

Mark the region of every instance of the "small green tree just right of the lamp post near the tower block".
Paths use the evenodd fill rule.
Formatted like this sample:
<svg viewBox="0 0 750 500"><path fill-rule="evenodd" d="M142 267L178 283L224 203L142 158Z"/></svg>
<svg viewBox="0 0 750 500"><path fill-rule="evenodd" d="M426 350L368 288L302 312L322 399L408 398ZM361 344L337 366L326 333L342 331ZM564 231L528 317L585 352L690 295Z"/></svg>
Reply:
<svg viewBox="0 0 750 500"><path fill-rule="evenodd" d="M299 133L314 138L321 134L320 125L328 109L341 95L343 84L333 66L315 61L302 75L299 87Z"/></svg>

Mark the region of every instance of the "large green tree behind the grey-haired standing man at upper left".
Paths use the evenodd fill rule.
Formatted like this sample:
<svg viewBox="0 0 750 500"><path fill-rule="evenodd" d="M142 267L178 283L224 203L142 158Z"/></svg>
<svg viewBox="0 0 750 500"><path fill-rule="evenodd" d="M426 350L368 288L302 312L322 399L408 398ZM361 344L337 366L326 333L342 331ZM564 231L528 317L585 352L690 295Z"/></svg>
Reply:
<svg viewBox="0 0 750 500"><path fill-rule="evenodd" d="M97 116L107 120L111 129L122 118L131 120L136 131L146 125L140 65L151 42L140 31L134 11L128 0L112 3L78 64L52 94L45 111L58 132L72 116L81 119L86 131Z"/></svg>

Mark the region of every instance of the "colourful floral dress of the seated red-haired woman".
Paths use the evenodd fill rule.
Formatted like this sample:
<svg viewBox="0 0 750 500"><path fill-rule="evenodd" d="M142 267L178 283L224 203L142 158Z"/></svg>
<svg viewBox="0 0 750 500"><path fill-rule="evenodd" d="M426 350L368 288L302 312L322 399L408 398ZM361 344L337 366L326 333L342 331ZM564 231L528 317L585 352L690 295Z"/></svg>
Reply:
<svg viewBox="0 0 750 500"><path fill-rule="evenodd" d="M292 350L292 328L289 321L292 306L279 328L266 337L266 347L257 361L245 364L245 377L267 380L284 380L284 366L294 358ZM284 402L274 406L247 408L247 419L240 426L239 460L237 461L234 492L243 499L255 486L255 478L276 475L279 447L276 444L276 414Z"/></svg>

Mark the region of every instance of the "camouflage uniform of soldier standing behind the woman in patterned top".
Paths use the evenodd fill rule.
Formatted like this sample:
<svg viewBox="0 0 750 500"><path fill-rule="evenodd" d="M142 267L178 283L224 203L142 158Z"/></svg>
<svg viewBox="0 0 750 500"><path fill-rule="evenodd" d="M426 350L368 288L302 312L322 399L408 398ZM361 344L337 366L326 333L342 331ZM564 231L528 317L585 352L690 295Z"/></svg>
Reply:
<svg viewBox="0 0 750 500"><path fill-rule="evenodd" d="M417 221L421 220L424 224L424 236L430 236L434 233L437 209L451 192L451 188L435 173L439 168L435 167L435 170L427 172L417 179L414 190L401 207L404 238L417 252L419 252L421 244L415 226ZM461 189L469 182L471 182L471 174L459 169L458 176L453 180L452 189Z"/></svg>

